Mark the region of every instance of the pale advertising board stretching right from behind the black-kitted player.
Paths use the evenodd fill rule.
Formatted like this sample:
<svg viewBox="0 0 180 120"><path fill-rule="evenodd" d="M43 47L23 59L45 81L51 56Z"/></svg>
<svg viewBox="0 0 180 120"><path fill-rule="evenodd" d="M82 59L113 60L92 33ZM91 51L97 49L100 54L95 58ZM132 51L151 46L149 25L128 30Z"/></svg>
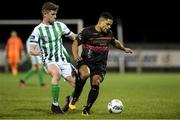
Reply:
<svg viewBox="0 0 180 120"><path fill-rule="evenodd" d="M123 56L123 57L122 57ZM123 58L123 59L122 59ZM124 60L124 61L123 61ZM134 50L133 54L125 54L119 50L111 50L108 56L108 68L121 71L121 61L124 69L134 69L142 72L144 69L179 69L180 50Z"/></svg>

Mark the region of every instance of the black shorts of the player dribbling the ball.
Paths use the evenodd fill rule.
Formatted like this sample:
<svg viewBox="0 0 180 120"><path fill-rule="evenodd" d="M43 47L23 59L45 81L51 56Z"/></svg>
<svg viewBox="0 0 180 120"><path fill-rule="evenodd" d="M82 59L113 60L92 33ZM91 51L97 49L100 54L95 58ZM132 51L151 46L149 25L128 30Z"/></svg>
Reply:
<svg viewBox="0 0 180 120"><path fill-rule="evenodd" d="M77 64L78 69L82 65L87 65L89 67L91 78L94 75L99 75L99 76L101 76L102 81L104 80L104 77L106 74L106 65L104 65L102 63L96 63L96 62L93 63L93 62L88 62L88 61L82 60L82 61L78 62L78 64Z"/></svg>

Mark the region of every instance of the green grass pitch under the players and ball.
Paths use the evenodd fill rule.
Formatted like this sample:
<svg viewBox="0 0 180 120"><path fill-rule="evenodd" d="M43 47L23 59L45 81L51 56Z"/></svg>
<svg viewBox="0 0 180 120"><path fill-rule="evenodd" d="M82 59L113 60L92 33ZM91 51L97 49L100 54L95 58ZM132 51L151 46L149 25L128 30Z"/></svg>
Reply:
<svg viewBox="0 0 180 120"><path fill-rule="evenodd" d="M77 103L77 110L65 115L50 111L51 89L41 88L36 76L28 81L27 87L19 88L19 78L11 74L0 74L0 119L180 119L180 74L108 73L101 84L100 94L88 117L81 116L89 91L87 81ZM46 76L50 83L50 77ZM61 80L60 105L73 90ZM121 114L110 114L107 104L118 98L124 104Z"/></svg>

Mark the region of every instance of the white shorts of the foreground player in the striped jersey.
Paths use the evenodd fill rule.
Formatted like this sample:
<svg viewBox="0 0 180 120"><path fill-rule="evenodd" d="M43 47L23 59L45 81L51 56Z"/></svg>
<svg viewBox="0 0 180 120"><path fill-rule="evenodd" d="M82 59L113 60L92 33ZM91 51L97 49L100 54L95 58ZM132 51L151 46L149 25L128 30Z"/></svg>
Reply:
<svg viewBox="0 0 180 120"><path fill-rule="evenodd" d="M64 79L72 75L72 67L70 63L50 62L47 63L47 67L50 64L54 64L59 68L59 73L64 77Z"/></svg>

